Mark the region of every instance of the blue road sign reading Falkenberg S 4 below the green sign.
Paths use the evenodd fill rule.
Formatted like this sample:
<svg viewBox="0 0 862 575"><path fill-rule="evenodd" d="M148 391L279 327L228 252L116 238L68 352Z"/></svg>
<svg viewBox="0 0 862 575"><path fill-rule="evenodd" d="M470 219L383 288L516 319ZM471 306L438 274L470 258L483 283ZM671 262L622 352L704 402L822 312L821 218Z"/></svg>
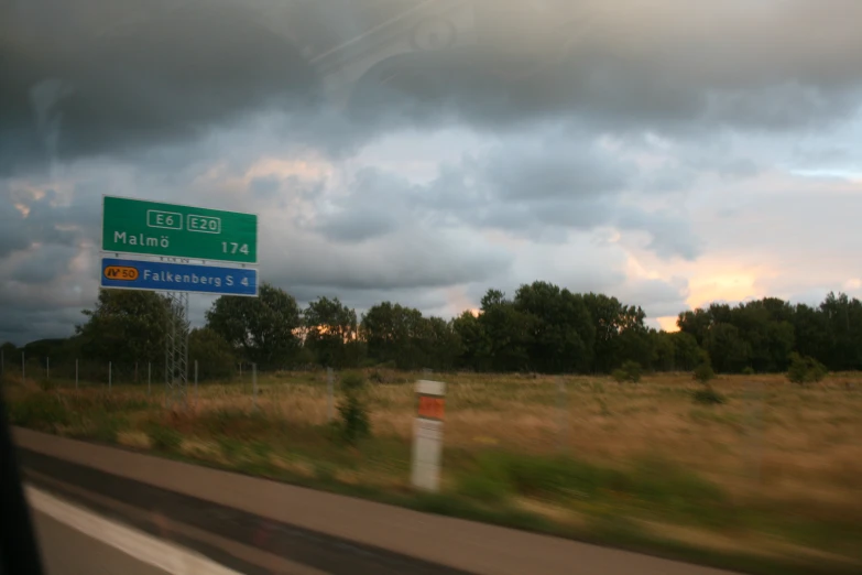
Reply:
<svg viewBox="0 0 862 575"><path fill-rule="evenodd" d="M100 275L102 288L258 295L257 269L102 258Z"/></svg>

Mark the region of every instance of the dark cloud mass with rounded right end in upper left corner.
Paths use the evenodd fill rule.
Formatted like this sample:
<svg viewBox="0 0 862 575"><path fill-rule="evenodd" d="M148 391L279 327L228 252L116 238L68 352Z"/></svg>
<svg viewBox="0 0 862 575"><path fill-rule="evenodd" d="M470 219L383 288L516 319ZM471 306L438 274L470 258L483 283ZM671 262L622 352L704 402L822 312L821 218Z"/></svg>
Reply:
<svg viewBox="0 0 862 575"><path fill-rule="evenodd" d="M313 89L299 47L228 2L12 1L4 169L187 139ZM56 139L51 142L50 139Z"/></svg>

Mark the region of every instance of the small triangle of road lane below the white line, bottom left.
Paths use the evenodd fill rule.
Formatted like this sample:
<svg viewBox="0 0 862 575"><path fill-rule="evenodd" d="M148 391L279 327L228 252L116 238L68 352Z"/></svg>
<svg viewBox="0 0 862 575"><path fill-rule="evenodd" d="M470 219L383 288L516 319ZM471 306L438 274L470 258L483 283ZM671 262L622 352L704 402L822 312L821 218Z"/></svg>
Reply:
<svg viewBox="0 0 862 575"><path fill-rule="evenodd" d="M166 575L119 549L35 511L33 522L46 575Z"/></svg>

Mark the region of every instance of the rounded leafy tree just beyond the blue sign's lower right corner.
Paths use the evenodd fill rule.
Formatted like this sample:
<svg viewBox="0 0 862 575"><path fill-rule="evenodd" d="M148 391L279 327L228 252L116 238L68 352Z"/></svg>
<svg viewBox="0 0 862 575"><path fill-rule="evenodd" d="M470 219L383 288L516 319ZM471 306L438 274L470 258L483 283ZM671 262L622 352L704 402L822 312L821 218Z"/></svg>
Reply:
<svg viewBox="0 0 862 575"><path fill-rule="evenodd" d="M248 361L263 367L290 364L299 349L299 307L287 292L269 283L258 297L222 295L207 311L207 327Z"/></svg>

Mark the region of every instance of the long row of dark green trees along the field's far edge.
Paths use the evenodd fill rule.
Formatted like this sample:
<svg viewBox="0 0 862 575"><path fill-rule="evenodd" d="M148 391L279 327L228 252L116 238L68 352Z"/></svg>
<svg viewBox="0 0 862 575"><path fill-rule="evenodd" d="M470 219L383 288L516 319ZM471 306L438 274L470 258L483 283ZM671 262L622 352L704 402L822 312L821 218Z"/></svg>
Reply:
<svg viewBox="0 0 862 575"><path fill-rule="evenodd" d="M161 361L164 326L173 313L151 292L102 290L86 321L67 339L31 343L30 355L57 360ZM790 354L830 370L862 369L862 304L829 293L818 306L776 297L686 311L678 332L644 324L640 306L548 282L522 285L513 296L489 290L478 313L454 319L382 302L357 315L338 299L305 308L284 290L263 284L257 299L222 296L189 334L189 359L201 377L226 377L238 362L261 369L318 365L336 369L384 365L399 369L608 373L626 361L647 370L786 371ZM9 355L18 352L4 344Z"/></svg>

